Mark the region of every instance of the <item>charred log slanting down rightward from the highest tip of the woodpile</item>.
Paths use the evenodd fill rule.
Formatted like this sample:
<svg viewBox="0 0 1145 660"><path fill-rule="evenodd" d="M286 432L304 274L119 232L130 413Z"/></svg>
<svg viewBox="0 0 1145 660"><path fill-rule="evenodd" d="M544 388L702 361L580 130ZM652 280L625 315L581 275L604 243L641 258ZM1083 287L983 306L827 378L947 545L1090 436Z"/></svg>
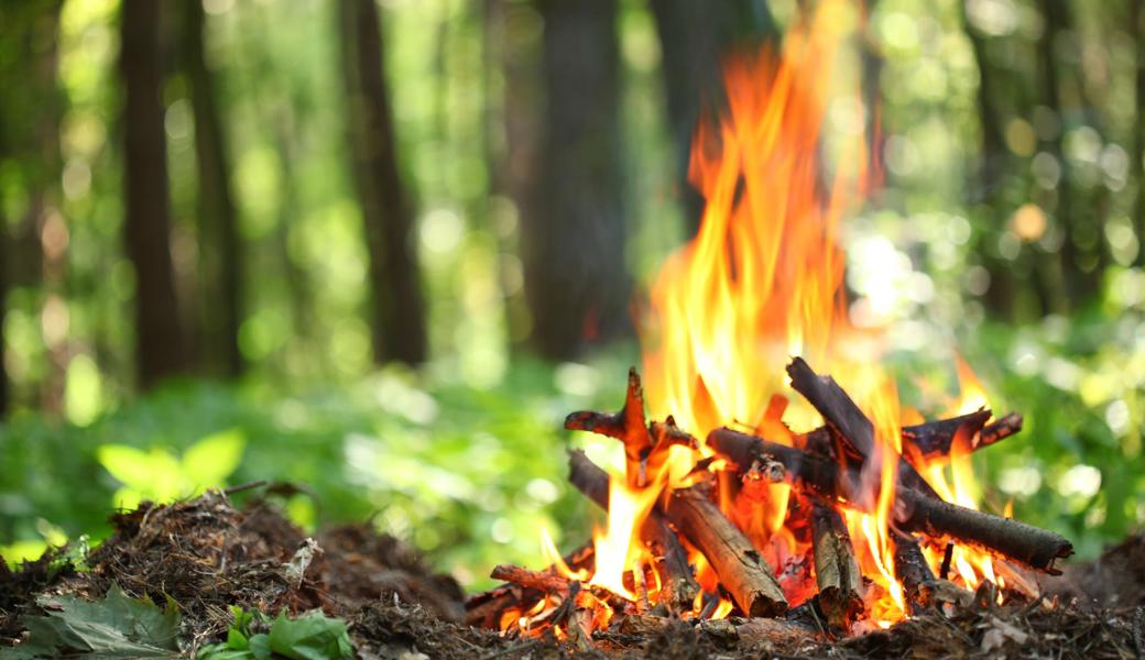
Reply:
<svg viewBox="0 0 1145 660"><path fill-rule="evenodd" d="M844 445L847 463L862 464L875 452L875 424L867 419L847 392L831 376L821 376L803 358L792 358L787 368L791 387L814 406L823 421L835 431ZM899 461L899 480L911 488L938 496L934 488L923 479L915 468ZM869 508L874 498L869 493L855 493L859 503Z"/></svg>

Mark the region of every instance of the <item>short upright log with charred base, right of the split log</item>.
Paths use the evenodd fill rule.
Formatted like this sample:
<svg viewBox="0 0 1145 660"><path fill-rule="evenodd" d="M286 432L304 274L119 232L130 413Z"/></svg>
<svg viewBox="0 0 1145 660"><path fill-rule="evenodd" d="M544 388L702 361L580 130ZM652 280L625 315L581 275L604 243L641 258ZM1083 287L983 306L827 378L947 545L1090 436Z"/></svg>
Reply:
<svg viewBox="0 0 1145 660"><path fill-rule="evenodd" d="M828 622L846 628L863 610L862 573L851 536L835 507L819 500L812 503L811 530L819 605Z"/></svg>

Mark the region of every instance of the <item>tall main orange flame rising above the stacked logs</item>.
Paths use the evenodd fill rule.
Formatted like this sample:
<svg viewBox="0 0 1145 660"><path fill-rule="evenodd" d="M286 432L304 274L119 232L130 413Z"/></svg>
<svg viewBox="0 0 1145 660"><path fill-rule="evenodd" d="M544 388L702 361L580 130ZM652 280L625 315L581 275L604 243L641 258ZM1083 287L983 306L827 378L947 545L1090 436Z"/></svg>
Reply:
<svg viewBox="0 0 1145 660"><path fill-rule="evenodd" d="M842 2L725 71L727 113L701 125L690 178L706 198L700 234L661 269L645 319L643 371L657 415L686 429L756 426L791 355L824 353L845 321L839 221L855 199L819 157ZM844 150L864 177L861 136ZM771 379L771 380L769 380Z"/></svg>

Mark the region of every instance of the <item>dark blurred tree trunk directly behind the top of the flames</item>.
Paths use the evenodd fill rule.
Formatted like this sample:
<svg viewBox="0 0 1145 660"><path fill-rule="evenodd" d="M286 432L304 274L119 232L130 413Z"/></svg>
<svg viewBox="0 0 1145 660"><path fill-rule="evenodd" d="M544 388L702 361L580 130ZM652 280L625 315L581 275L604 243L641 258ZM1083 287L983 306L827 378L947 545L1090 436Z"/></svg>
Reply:
<svg viewBox="0 0 1145 660"><path fill-rule="evenodd" d="M718 110L722 103L721 58L737 47L777 42L780 34L764 0L652 0L652 10L663 57L679 196L692 236L700 229L703 198L688 183L688 150L701 111Z"/></svg>

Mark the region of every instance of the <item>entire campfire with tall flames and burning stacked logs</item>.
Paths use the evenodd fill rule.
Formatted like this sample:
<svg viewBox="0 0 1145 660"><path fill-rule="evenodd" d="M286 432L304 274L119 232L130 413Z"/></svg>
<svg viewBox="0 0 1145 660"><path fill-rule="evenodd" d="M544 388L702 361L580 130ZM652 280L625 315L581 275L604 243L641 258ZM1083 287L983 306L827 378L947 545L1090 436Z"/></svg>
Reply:
<svg viewBox="0 0 1145 660"><path fill-rule="evenodd" d="M693 145L700 234L641 318L653 421L632 369L619 412L564 422L623 446L622 475L569 453L570 483L607 524L564 556L545 534L544 570L493 568L505 585L469 599L471 623L582 647L731 617L852 635L1037 602L1034 573L1073 552L978 509L970 455L1021 416L995 419L958 359L961 395L925 421L879 366L886 334L848 313L842 220L877 173L861 132L823 135L837 10L823 3L781 55L727 65L724 118Z"/></svg>

